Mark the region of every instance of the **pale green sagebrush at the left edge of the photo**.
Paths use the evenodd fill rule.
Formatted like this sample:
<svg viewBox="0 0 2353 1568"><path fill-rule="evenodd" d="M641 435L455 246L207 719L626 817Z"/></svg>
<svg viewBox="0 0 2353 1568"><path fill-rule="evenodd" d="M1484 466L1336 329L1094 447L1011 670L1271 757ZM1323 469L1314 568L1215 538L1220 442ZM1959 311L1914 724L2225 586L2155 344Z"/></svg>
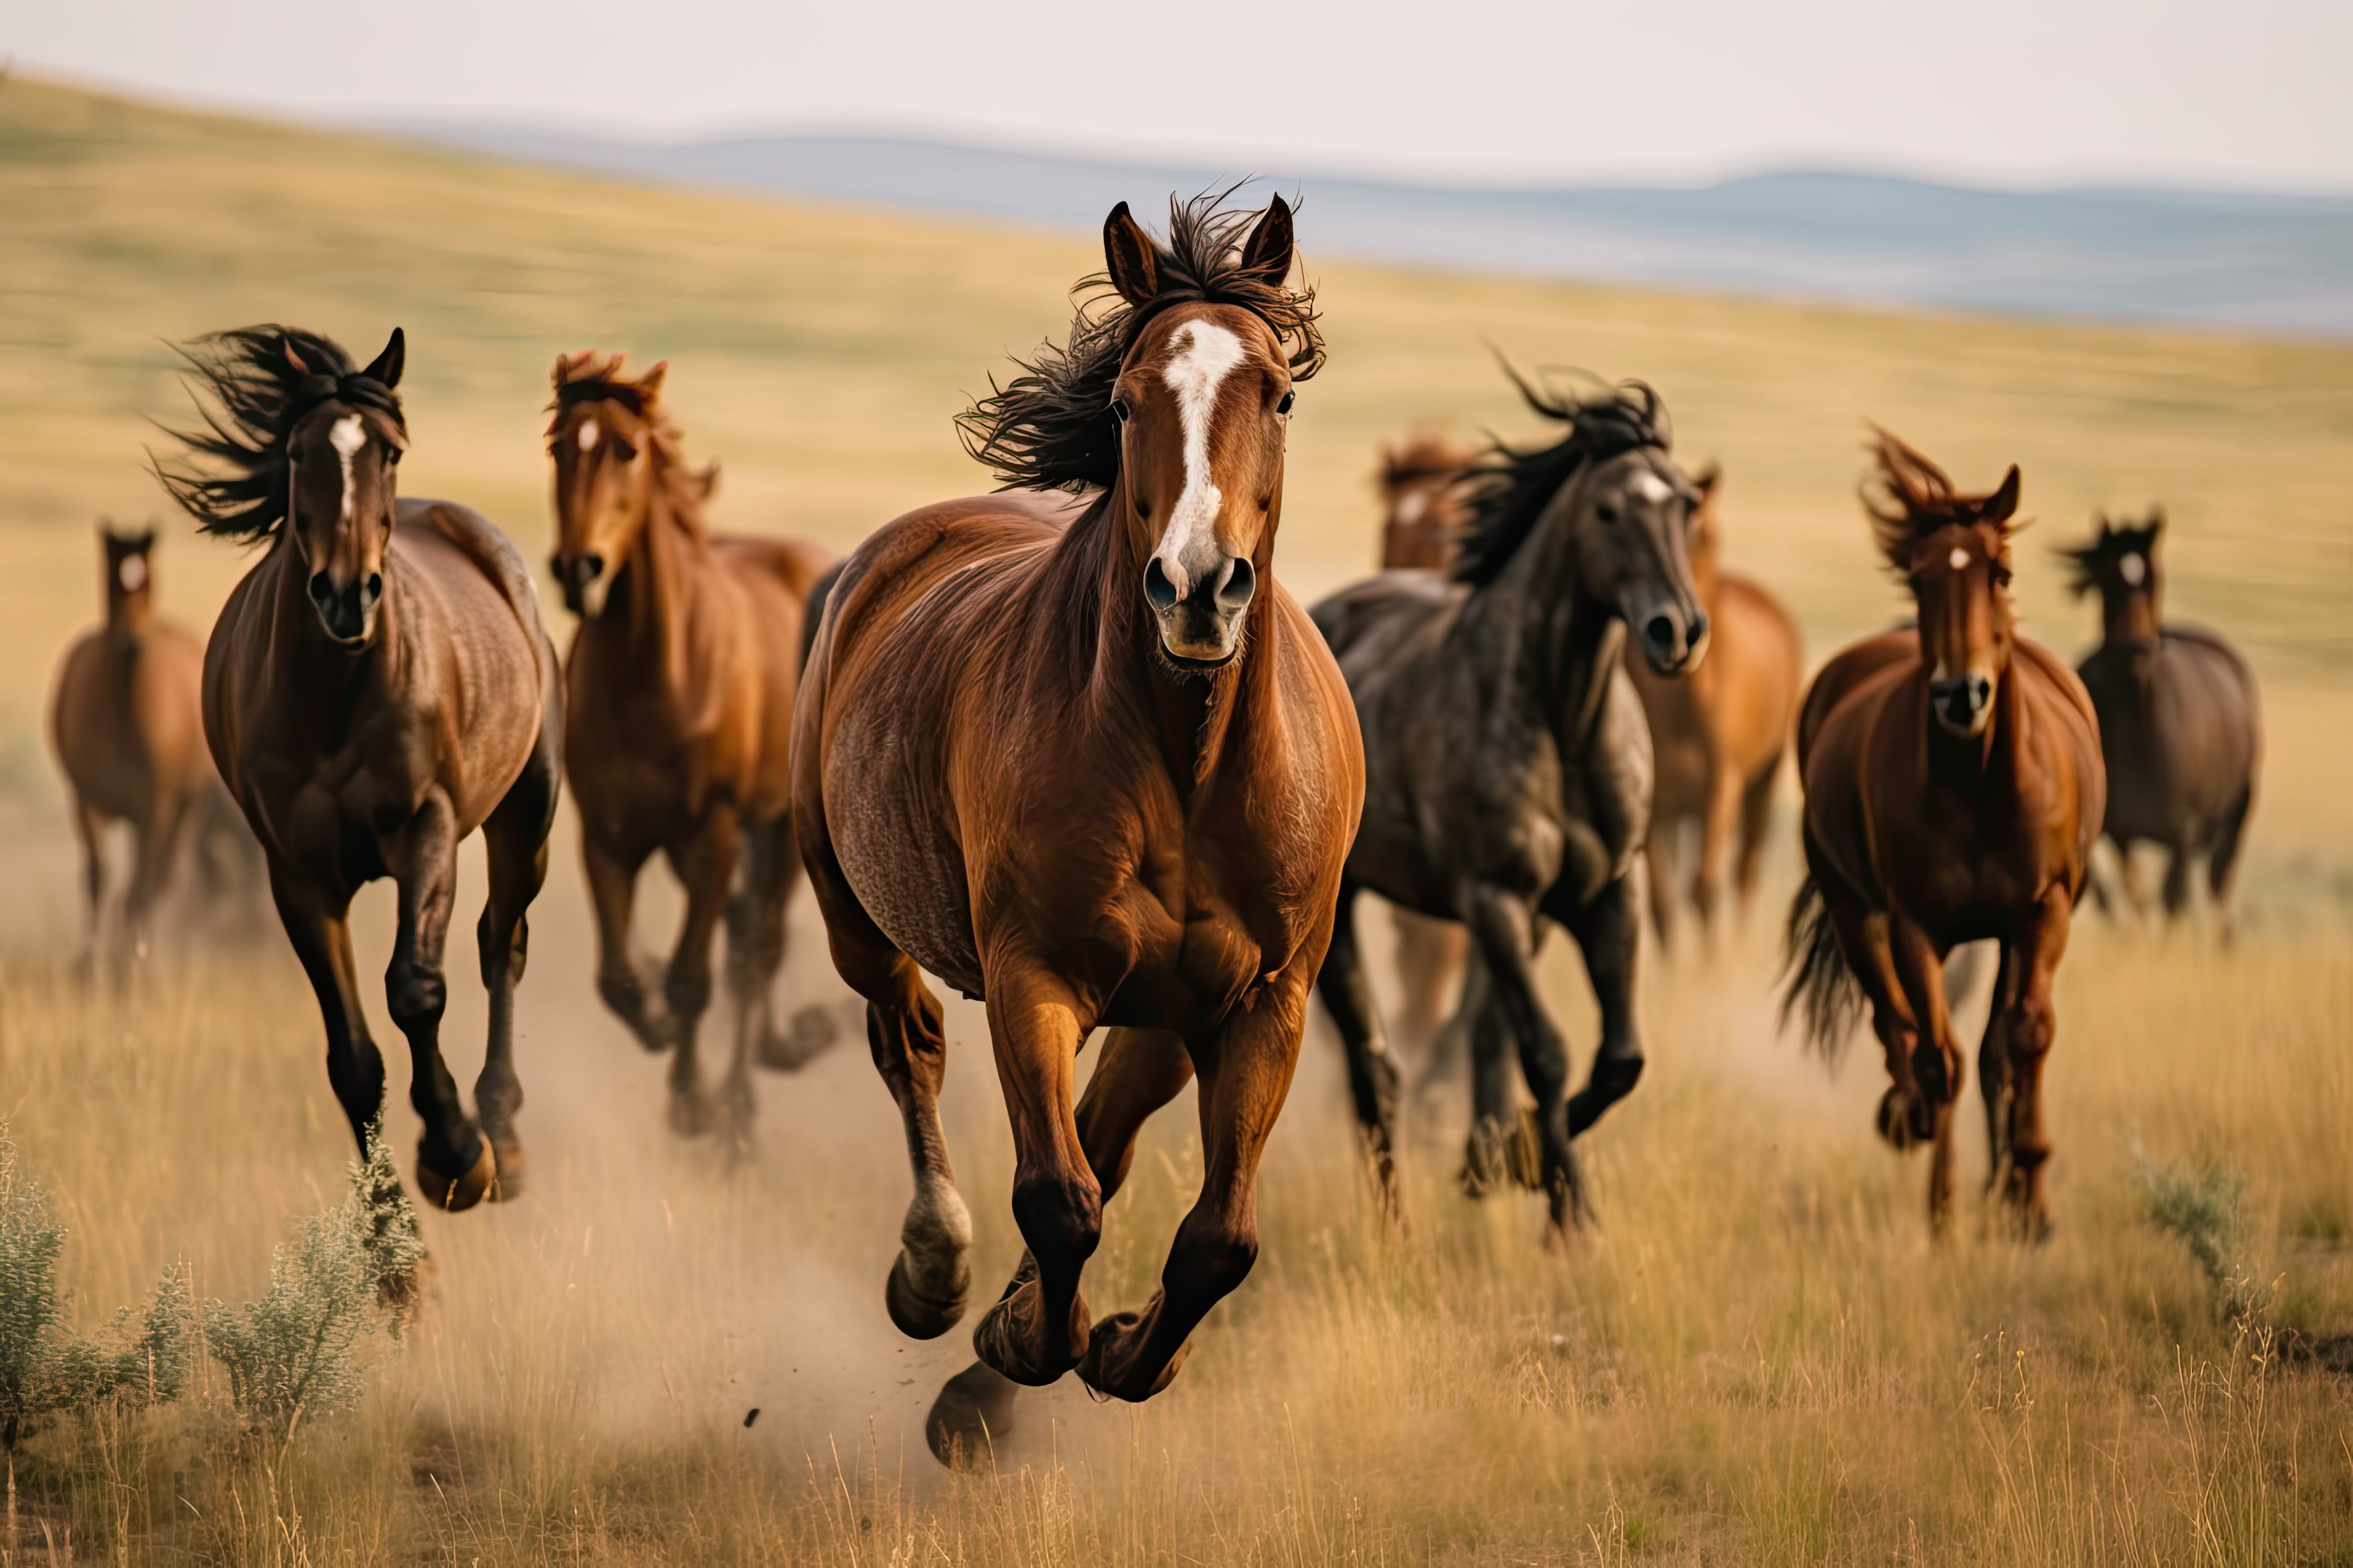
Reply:
<svg viewBox="0 0 2353 1568"><path fill-rule="evenodd" d="M16 1168L16 1145L0 1124L0 1448L42 1418L87 1413L106 1399L160 1403L188 1380L188 1286L167 1269L146 1314L115 1314L92 1340L66 1321L56 1260L66 1227L49 1194Z"/></svg>

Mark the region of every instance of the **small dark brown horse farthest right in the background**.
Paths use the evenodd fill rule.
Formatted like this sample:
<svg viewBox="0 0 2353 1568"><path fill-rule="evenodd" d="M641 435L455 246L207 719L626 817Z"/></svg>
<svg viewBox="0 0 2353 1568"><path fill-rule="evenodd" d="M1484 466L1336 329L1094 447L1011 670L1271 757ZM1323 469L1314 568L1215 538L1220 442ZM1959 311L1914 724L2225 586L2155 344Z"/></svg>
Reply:
<svg viewBox="0 0 2353 1568"><path fill-rule="evenodd" d="M2205 630L2162 618L2165 571L2158 538L2165 512L2144 524L2099 517L2089 543L2061 550L2075 597L2099 590L2101 644L2075 665L2099 712L2108 755L2108 816L2125 896L2148 907L2132 846L2162 844L2165 914L2191 893L2191 860L2207 856L2207 891L2221 938L2231 940L2231 872L2238 870L2247 811L2264 766L2261 693L2238 649ZM2092 896L2106 907L2094 879Z"/></svg>

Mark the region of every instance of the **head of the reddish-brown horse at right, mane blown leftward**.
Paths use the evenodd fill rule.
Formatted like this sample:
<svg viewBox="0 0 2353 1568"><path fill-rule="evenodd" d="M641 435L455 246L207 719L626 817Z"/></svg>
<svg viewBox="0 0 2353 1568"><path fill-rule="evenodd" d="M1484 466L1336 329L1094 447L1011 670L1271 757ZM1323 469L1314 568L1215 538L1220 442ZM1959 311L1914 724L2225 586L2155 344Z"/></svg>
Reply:
<svg viewBox="0 0 2353 1568"><path fill-rule="evenodd" d="M1878 433L1878 498L1866 498L1880 550L1918 604L1929 710L1953 736L1993 722L1993 693L2009 672L2017 618L2009 609L2009 534L2019 468L1986 496L1962 496L1941 468Z"/></svg>

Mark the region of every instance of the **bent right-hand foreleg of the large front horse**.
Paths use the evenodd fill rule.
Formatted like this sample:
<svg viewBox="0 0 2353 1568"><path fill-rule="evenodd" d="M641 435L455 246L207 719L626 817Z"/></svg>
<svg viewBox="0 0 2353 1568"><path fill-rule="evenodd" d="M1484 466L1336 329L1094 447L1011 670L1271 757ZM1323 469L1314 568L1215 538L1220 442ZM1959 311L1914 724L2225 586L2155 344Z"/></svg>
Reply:
<svg viewBox="0 0 2353 1568"><path fill-rule="evenodd" d="M1214 1041L1193 1051L1200 1074L1200 1197L1176 1227L1160 1288L1141 1312L1094 1326L1078 1378L1096 1394L1139 1401L1169 1385L1186 1340L1259 1258L1259 1157L1299 1063L1306 997L1268 987Z"/></svg>

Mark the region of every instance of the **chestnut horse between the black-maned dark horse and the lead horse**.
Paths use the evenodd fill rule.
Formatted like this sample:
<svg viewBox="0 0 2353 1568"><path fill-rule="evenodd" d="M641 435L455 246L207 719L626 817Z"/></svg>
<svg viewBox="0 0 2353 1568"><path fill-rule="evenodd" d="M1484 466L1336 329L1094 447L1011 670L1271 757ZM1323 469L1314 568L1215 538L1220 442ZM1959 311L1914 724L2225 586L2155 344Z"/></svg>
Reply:
<svg viewBox="0 0 2353 1568"><path fill-rule="evenodd" d="M565 656L565 776L595 903L598 994L645 1048L675 1051L671 1121L687 1135L713 1119L694 1041L711 1006L711 938L727 919L736 1039L720 1114L741 1140L751 1060L791 1070L833 1041L824 1009L805 1009L791 1032L772 1020L800 879L791 743L802 604L828 557L704 524L718 468L687 465L661 407L666 369L631 381L621 355L555 360L551 569L579 616ZM638 872L656 849L687 889L687 914L649 983L628 936Z"/></svg>

